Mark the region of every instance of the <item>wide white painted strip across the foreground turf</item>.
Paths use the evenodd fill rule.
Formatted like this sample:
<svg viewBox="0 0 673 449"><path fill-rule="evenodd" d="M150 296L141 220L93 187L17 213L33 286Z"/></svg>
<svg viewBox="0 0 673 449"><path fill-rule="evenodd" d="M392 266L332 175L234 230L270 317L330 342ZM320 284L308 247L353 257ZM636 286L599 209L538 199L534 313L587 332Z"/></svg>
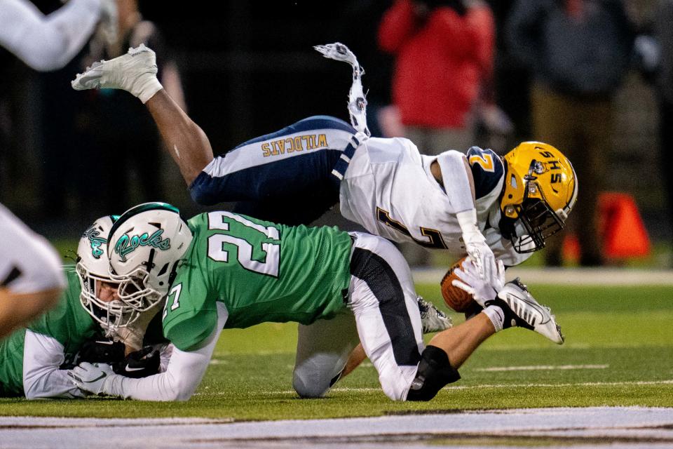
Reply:
<svg viewBox="0 0 673 449"><path fill-rule="evenodd" d="M573 448L663 448L673 443L673 409L645 407L531 408L511 410L435 410L423 415L331 420L230 422L189 419L99 419L0 417L3 448L339 448L390 449L452 447L451 438L557 436L552 445ZM600 438L600 439L597 439ZM498 447L488 442L473 447ZM576 443L573 442L573 443ZM510 443L507 447L512 447ZM668 445L668 446L667 446ZM464 445L461 447L465 447ZM528 445L526 447L529 447Z"/></svg>

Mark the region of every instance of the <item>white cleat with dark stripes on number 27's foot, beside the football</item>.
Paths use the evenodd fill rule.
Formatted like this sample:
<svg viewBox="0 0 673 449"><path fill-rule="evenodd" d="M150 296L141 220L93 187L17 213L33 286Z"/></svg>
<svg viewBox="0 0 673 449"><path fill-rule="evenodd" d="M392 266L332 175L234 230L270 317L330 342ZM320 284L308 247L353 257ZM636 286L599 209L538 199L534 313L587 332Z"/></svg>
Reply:
<svg viewBox="0 0 673 449"><path fill-rule="evenodd" d="M506 283L498 292L498 297L484 305L488 307L491 304L503 309L503 329L519 326L534 330L556 344L563 344L561 326L556 323L551 309L539 304L518 278Z"/></svg>

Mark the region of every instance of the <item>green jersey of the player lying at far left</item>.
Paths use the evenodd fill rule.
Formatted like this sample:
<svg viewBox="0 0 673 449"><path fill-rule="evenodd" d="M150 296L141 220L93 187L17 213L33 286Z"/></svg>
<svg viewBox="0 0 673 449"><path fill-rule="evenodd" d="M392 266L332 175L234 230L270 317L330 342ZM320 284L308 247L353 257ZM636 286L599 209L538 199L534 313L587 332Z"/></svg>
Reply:
<svg viewBox="0 0 673 449"><path fill-rule="evenodd" d="M74 356L83 342L100 327L79 302L81 288L74 267L65 269L67 289L56 307L31 323L35 333L52 337L64 347L66 359ZM20 328L0 341L0 396L23 396L23 351L26 328Z"/></svg>

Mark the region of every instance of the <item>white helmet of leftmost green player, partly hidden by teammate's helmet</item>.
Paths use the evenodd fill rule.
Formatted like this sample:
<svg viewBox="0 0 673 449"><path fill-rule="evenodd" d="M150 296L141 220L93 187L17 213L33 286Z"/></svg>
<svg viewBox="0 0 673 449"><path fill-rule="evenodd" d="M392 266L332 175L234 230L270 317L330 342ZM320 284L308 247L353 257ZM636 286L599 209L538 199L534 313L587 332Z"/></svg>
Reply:
<svg viewBox="0 0 673 449"><path fill-rule="evenodd" d="M113 335L116 328L128 326L132 319L137 318L128 313L133 309L123 302L105 302L99 297L101 282L114 283L109 277L107 237L116 219L116 215L105 215L86 229L79 239L75 266L81 287L79 300L82 307L107 331L107 336Z"/></svg>

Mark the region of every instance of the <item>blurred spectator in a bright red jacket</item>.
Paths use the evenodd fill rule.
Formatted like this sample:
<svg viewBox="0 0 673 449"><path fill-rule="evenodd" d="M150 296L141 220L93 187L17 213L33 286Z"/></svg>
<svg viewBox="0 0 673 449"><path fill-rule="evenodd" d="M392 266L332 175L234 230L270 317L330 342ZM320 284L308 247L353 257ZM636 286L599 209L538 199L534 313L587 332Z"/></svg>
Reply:
<svg viewBox="0 0 673 449"><path fill-rule="evenodd" d="M393 103L422 153L474 145L473 112L492 76L494 34L483 1L396 0L383 15L379 44L395 55Z"/></svg>

